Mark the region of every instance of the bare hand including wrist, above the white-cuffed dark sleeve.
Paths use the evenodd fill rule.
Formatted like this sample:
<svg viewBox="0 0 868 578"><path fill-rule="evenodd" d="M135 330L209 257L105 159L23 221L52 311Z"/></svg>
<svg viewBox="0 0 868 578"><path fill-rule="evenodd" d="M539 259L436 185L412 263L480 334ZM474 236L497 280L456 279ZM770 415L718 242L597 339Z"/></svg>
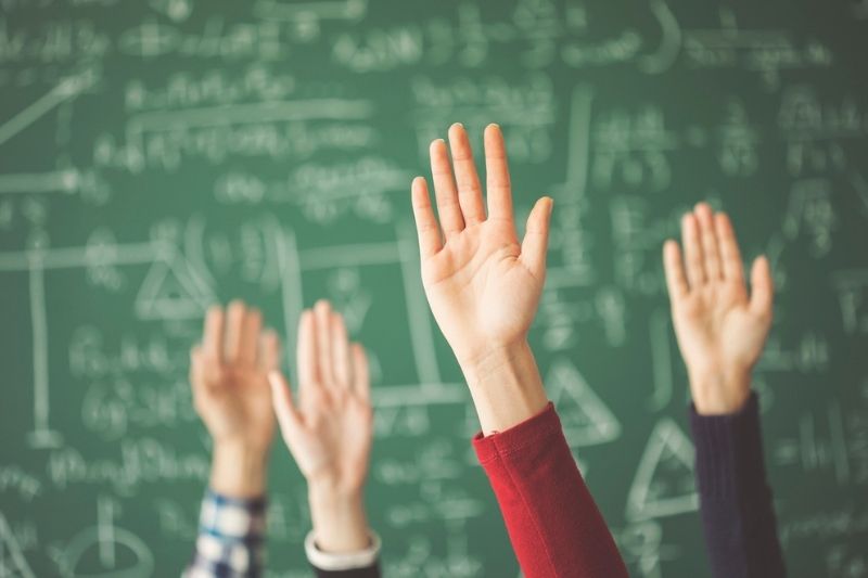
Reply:
<svg viewBox="0 0 868 578"><path fill-rule="evenodd" d="M269 375L283 439L307 479L316 541L331 552L369 545L362 489L373 420L368 358L327 301L298 323L298 400Z"/></svg>

